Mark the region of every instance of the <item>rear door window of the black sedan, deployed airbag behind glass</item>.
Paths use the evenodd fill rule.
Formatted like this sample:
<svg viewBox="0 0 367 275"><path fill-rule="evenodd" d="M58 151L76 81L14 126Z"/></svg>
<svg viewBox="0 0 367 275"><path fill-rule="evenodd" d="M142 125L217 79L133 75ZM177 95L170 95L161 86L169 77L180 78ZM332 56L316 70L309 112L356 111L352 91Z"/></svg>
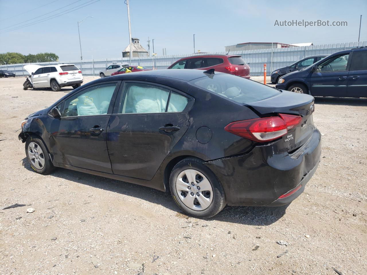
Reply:
<svg viewBox="0 0 367 275"><path fill-rule="evenodd" d="M128 83L122 101L120 114L164 113L183 111L188 98L155 85Z"/></svg>

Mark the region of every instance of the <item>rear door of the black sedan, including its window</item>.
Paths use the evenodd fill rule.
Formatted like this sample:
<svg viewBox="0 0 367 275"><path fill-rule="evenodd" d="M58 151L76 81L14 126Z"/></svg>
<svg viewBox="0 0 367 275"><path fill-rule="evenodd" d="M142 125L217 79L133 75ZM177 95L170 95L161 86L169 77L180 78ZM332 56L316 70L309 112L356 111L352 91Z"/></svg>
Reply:
<svg viewBox="0 0 367 275"><path fill-rule="evenodd" d="M188 129L193 99L143 82L125 83L117 98L107 130L113 173L150 180Z"/></svg>

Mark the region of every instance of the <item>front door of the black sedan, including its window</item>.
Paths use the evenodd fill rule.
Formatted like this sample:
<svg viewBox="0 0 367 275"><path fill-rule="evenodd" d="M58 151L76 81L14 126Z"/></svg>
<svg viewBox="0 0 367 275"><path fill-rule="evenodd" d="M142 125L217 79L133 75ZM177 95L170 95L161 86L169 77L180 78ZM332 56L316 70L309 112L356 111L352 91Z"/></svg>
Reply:
<svg viewBox="0 0 367 275"><path fill-rule="evenodd" d="M89 86L62 103L51 124L54 161L112 173L106 135L120 81Z"/></svg>

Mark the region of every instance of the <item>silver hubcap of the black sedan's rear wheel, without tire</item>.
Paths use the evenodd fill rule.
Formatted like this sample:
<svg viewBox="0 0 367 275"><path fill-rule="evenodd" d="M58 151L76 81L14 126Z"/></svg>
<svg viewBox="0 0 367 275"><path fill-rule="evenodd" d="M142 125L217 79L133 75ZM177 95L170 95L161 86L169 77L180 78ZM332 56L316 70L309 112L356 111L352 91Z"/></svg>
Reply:
<svg viewBox="0 0 367 275"><path fill-rule="evenodd" d="M188 208L201 211L207 209L213 200L213 188L207 177L195 170L183 170L176 180L179 199Z"/></svg>

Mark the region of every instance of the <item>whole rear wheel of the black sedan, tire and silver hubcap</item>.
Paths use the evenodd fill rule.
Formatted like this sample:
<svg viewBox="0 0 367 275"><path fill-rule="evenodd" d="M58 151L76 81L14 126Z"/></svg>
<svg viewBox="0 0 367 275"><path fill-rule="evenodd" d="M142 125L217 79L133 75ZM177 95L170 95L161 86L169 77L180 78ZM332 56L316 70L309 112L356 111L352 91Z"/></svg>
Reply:
<svg viewBox="0 0 367 275"><path fill-rule="evenodd" d="M210 218L227 204L222 184L197 158L185 158L174 166L170 189L179 208L193 217Z"/></svg>

